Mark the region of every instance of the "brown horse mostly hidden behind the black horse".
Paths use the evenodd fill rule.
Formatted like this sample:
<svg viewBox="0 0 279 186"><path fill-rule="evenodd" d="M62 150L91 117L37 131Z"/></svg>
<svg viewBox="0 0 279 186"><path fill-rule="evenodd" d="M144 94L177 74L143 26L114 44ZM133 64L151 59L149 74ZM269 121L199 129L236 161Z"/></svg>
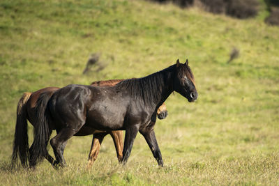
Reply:
<svg viewBox="0 0 279 186"><path fill-rule="evenodd" d="M107 81L98 81L92 82L91 86L114 86L115 84L123 81L124 79L112 79ZM14 149L13 149L13 162L16 162L17 154L20 157L22 165L27 166L27 161L29 159L29 153L33 148L33 144L29 149L28 145L28 136L27 136L27 120L35 127L36 125L36 104L38 98L42 93L54 93L54 91L59 90L58 87L47 87L40 89L33 93L24 93L20 102L17 105L17 125L15 130L15 135L21 134L22 137L20 139L15 138L14 141ZM165 107L165 103L158 108L157 111L158 118L163 119L167 116L167 108ZM100 130L93 130L92 128L88 128L86 126L82 127L75 136L85 136L93 134L91 150L89 153L89 163L88 167L91 167L93 162L96 160L98 153L100 151L100 146L104 137L107 134L112 136L114 141L114 146L116 149L116 155L121 162L122 160L122 150L123 150L123 132L120 130L108 130L108 131L100 131ZM55 164L54 159L50 155L46 155L45 157L52 165Z"/></svg>

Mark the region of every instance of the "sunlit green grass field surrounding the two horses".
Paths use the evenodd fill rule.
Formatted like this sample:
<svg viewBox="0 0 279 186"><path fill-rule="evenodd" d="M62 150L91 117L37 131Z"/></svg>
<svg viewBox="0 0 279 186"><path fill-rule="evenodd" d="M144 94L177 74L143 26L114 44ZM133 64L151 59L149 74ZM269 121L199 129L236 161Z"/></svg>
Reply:
<svg viewBox="0 0 279 186"><path fill-rule="evenodd" d="M149 1L0 1L0 185L279 185L279 27L265 15L236 20ZM227 63L233 47L239 58ZM96 52L106 67L82 75ZM165 102L169 115L155 127L163 168L138 134L125 167L106 137L87 170L91 137L73 137L65 169L47 161L10 169L25 91L144 77L186 58L199 98L174 93Z"/></svg>

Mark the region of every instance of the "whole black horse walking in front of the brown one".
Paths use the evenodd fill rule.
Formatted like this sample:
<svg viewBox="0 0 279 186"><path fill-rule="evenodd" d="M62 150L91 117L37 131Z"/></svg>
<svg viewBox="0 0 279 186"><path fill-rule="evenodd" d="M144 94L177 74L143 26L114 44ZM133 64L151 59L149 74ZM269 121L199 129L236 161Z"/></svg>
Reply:
<svg viewBox="0 0 279 186"><path fill-rule="evenodd" d="M188 99L197 100L195 79L186 63L179 63L139 79L127 79L112 87L70 84L52 93L40 95L37 104L38 120L31 149L30 165L48 155L50 140L56 164L65 166L63 150L70 137L82 126L97 130L126 130L123 160L126 164L137 132L144 136L158 164L162 155L153 127L156 112L169 95L176 91Z"/></svg>

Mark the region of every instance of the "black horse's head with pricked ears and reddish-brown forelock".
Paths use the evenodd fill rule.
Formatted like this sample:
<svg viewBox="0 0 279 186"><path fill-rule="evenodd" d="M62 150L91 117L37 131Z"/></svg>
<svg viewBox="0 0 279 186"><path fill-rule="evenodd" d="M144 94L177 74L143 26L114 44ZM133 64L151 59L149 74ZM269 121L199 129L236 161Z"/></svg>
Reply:
<svg viewBox="0 0 279 186"><path fill-rule="evenodd" d="M188 59L186 62L179 63L179 59L176 61L176 72L174 75L174 91L180 93L188 102L194 102L197 100L197 90L195 87L195 78L188 66Z"/></svg>

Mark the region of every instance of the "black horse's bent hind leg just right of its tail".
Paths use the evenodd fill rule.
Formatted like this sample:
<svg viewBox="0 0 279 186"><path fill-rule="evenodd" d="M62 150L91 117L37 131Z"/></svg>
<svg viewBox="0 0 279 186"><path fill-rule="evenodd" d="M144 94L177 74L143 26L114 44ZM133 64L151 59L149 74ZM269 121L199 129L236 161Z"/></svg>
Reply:
<svg viewBox="0 0 279 186"><path fill-rule="evenodd" d="M56 157L56 164L60 164L60 166L62 167L66 166L66 161L63 157L63 150L66 147L68 139L73 137L73 135L78 130L80 130L80 127L78 129L73 129L70 127L63 128L54 138L50 140L50 144L53 148L54 155Z"/></svg>

